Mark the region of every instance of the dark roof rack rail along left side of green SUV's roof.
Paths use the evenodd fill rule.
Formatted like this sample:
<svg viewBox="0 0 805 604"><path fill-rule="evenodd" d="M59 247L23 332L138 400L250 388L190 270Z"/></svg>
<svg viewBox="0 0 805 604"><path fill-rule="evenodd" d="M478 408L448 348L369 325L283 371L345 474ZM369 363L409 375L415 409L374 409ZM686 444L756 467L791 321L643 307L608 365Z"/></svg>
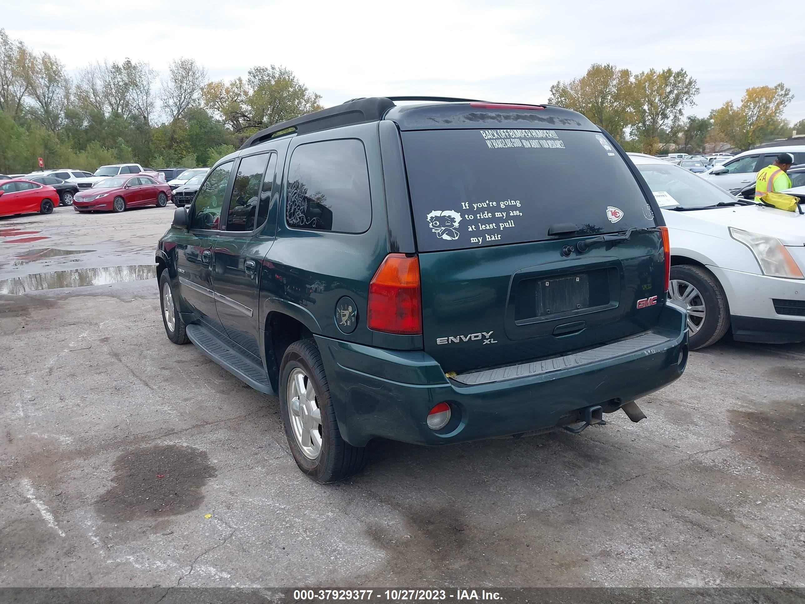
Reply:
<svg viewBox="0 0 805 604"><path fill-rule="evenodd" d="M263 128L252 134L249 139L246 139L246 143L243 143L241 148L246 149L260 143L265 143L275 136L286 134L284 130L289 130L287 134L291 134L291 132L295 132L295 134L308 134L309 132L328 130L329 128L347 126L349 124L375 122L381 119L383 115L386 114L386 111L390 110L392 107L394 107L394 101L386 97L353 99L341 103L341 105L314 111L312 114L302 115L299 118L289 119L285 122L279 122L279 124Z"/></svg>

